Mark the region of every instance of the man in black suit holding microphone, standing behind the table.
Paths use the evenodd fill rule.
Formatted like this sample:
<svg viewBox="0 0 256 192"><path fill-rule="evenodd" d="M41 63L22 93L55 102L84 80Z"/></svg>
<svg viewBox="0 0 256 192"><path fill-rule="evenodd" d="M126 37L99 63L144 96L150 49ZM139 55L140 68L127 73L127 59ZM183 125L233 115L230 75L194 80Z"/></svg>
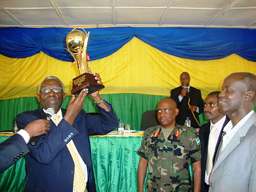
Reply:
<svg viewBox="0 0 256 192"><path fill-rule="evenodd" d="M204 102L201 91L189 85L190 77L187 72L180 75L181 86L171 90L171 98L174 99L179 108L176 123L183 125L185 119L191 119L191 127L199 128L199 114L203 112Z"/></svg>

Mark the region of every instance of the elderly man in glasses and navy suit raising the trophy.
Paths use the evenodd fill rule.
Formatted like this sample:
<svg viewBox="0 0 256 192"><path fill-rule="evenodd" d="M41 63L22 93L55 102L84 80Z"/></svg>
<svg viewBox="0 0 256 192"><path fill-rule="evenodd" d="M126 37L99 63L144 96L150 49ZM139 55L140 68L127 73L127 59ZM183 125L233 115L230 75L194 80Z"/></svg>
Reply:
<svg viewBox="0 0 256 192"><path fill-rule="evenodd" d="M102 84L97 73L93 76L98 84ZM50 130L40 137L38 144L28 144L31 152L27 155L28 179L24 191L96 191L89 135L114 130L118 119L112 106L98 91L90 96L100 115L86 114L82 106L87 93L88 90L83 89L76 98L72 95L67 110L64 110L60 108L66 96L63 83L56 77L47 77L40 84L37 96L43 108L17 115L17 126L21 129L32 120L43 118L49 107L56 113L51 118ZM82 179L76 180L77 173L81 173ZM82 189L78 189L77 184L82 185Z"/></svg>

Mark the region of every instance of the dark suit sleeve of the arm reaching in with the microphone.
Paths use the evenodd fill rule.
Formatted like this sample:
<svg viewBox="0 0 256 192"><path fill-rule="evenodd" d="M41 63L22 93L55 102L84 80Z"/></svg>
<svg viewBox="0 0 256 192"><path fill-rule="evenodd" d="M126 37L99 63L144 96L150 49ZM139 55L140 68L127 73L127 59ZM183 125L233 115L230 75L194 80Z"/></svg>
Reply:
<svg viewBox="0 0 256 192"><path fill-rule="evenodd" d="M13 165L30 150L19 134L11 136L0 144L0 173Z"/></svg>

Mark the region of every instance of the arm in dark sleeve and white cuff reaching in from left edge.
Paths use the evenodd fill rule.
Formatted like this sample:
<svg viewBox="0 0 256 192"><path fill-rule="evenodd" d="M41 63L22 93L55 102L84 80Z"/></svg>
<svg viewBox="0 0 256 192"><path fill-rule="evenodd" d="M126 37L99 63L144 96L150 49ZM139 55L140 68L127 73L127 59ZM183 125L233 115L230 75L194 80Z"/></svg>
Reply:
<svg viewBox="0 0 256 192"><path fill-rule="evenodd" d="M24 130L3 141L0 144L0 173L30 152L27 147L30 137L45 134L47 131L49 131L48 120L39 119L28 123Z"/></svg>

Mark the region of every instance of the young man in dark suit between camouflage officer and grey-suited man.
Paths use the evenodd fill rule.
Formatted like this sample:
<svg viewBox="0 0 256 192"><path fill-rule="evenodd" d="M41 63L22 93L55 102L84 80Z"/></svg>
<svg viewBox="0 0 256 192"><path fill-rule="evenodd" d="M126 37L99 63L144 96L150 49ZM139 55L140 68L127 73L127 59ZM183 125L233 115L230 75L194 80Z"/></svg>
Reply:
<svg viewBox="0 0 256 192"><path fill-rule="evenodd" d="M214 91L209 93L204 101L204 113L207 119L210 120L209 123L203 124L199 130L199 137L201 141L201 158L202 158L202 168L201 168L201 191L207 192L209 189L210 173L209 169L212 168L211 165L207 165L208 161L214 161L214 155L217 151L218 144L220 144L221 133L223 128L229 122L228 116L224 115L218 109L218 94L220 91ZM213 130L214 127L214 130ZM210 135L210 131L212 134ZM209 135L214 138L213 144L208 146ZM208 148L213 150L212 153L208 154ZM213 158L213 159L212 159ZM213 163L212 163L213 165ZM209 167L207 170L207 166ZM208 172L207 172L208 171ZM211 170L210 170L211 172Z"/></svg>

